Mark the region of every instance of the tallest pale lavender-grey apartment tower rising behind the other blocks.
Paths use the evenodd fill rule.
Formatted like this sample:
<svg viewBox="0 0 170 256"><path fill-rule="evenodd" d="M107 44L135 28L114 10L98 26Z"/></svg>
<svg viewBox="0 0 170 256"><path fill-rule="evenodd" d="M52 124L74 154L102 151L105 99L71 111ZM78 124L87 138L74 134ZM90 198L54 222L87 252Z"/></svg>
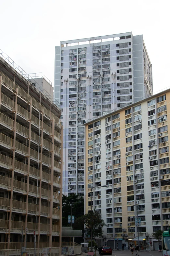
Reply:
<svg viewBox="0 0 170 256"><path fill-rule="evenodd" d="M55 47L54 98L64 126L63 193L84 195L84 126L152 95L152 65L142 35L61 42Z"/></svg>

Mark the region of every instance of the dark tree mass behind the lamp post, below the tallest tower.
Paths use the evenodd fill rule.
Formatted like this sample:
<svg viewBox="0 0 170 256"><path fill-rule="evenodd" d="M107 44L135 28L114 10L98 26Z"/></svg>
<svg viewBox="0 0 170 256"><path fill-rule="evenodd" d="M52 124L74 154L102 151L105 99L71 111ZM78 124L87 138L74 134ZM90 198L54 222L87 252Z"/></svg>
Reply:
<svg viewBox="0 0 170 256"><path fill-rule="evenodd" d="M71 226L70 223L68 223L68 215L71 215L71 203L72 205L72 215L75 217L75 221L77 218L81 217L84 214L84 199L83 197L79 197L76 195L71 196L64 196L63 195L63 207L62 207L62 226L67 227ZM81 203L77 203L81 202ZM84 229L83 225L75 226L75 224L72 225L73 229Z"/></svg>

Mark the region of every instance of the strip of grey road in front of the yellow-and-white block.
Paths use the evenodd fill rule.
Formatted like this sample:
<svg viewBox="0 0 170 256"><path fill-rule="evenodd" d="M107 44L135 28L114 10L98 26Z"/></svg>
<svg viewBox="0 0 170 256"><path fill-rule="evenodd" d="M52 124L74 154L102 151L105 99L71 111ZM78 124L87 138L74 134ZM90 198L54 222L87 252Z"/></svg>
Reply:
<svg viewBox="0 0 170 256"><path fill-rule="evenodd" d="M82 253L83 256L86 256L87 253ZM131 251L122 251L122 250L112 250L112 256L131 256ZM98 251L96 251L96 256L100 256ZM106 254L106 256L108 256ZM133 256L136 256L136 251L134 251ZM162 256L162 252L159 251L139 251L139 256Z"/></svg>

